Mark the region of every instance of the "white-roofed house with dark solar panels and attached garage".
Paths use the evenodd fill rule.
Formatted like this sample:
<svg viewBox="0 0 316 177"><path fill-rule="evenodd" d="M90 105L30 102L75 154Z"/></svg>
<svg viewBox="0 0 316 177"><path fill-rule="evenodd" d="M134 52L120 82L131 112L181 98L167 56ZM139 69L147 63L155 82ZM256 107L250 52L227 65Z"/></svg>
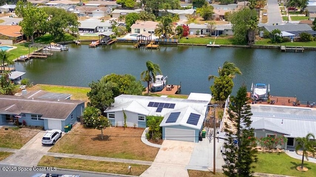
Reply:
<svg viewBox="0 0 316 177"><path fill-rule="evenodd" d="M187 99L122 94L104 113L112 125L123 126L124 110L127 126L144 128L147 116L161 116L164 140L198 142L211 98L206 93L191 93Z"/></svg>

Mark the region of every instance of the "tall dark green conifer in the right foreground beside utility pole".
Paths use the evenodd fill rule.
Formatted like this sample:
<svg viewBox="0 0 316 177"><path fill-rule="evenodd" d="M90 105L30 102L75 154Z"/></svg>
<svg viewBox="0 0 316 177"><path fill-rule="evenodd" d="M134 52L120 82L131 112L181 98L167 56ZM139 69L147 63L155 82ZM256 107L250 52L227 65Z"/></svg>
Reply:
<svg viewBox="0 0 316 177"><path fill-rule="evenodd" d="M257 161L256 138L251 128L251 108L247 105L247 88L242 86L231 97L229 121L225 121L227 141L224 143L224 174L228 177L251 177ZM230 123L228 123L230 122Z"/></svg>

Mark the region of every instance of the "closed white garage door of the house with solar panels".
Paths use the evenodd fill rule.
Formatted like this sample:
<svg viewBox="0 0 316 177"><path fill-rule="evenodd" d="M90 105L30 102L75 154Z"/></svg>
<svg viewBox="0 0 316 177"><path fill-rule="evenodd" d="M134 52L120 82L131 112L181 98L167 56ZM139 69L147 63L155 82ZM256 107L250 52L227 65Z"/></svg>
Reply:
<svg viewBox="0 0 316 177"><path fill-rule="evenodd" d="M166 140L179 140L179 141L189 141L194 142L195 131L178 129L178 128L165 128L165 139Z"/></svg>

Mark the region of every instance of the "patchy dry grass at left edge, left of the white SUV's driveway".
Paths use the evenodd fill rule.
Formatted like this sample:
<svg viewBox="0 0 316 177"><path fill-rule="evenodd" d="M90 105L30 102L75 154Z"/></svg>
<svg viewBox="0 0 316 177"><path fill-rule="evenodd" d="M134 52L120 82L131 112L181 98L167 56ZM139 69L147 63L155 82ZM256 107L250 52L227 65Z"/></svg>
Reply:
<svg viewBox="0 0 316 177"><path fill-rule="evenodd" d="M40 129L35 128L16 128L9 127L5 130L0 128L0 147L1 148L22 148L28 141L30 141Z"/></svg>

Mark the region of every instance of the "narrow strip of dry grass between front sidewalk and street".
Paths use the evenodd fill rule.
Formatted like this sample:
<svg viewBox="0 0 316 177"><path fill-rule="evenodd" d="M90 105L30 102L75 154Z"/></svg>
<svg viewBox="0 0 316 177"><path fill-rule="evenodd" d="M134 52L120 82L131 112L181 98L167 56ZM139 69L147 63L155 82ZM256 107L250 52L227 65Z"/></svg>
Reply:
<svg viewBox="0 0 316 177"><path fill-rule="evenodd" d="M127 169L129 165L132 167L131 172L129 172L129 170ZM85 160L78 158L60 158L51 156L43 156L40 159L40 163L38 164L38 166L48 166L62 169L74 169L132 176L140 176L143 172L145 172L145 170L147 170L150 167L148 165Z"/></svg>

